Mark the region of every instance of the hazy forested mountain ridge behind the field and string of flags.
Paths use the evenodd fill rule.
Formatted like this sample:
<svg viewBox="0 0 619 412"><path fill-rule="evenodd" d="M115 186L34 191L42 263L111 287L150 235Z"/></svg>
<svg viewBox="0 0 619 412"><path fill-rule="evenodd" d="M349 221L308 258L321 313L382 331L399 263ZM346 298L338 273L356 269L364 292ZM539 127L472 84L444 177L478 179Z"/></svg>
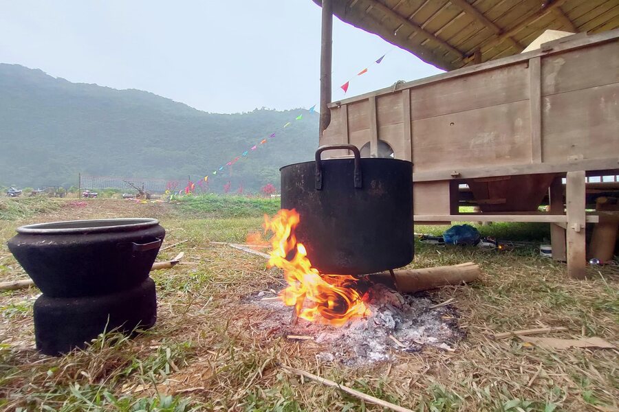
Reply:
<svg viewBox="0 0 619 412"><path fill-rule="evenodd" d="M282 165L312 159L318 114L206 113L146 91L72 83L0 64L0 185L68 187L79 172L199 179L265 137L267 144L210 179L217 192L228 181L232 191L241 183L253 192L267 183L279 187Z"/></svg>

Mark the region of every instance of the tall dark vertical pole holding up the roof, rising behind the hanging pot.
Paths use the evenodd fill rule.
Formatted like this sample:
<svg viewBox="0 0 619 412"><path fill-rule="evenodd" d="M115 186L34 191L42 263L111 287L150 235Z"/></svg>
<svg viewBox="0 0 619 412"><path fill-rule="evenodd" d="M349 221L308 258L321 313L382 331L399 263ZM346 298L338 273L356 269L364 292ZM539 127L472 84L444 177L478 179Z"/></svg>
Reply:
<svg viewBox="0 0 619 412"><path fill-rule="evenodd" d="M321 122L318 139L331 123L331 111L327 105L331 102L331 72L333 46L333 5L332 0L323 0L323 20L321 26Z"/></svg>

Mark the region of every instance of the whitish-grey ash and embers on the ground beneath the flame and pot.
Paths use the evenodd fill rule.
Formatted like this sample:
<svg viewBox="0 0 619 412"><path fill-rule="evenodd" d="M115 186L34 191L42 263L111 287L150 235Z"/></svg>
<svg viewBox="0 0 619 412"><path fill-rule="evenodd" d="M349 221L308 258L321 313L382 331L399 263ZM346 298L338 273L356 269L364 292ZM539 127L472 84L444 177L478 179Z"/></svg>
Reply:
<svg viewBox="0 0 619 412"><path fill-rule="evenodd" d="M266 299L265 299L266 298ZM363 300L371 314L335 327L298 319L291 323L292 308L271 293L248 297L251 304L270 311L256 325L274 336L298 336L301 345L318 345L318 361L340 361L349 366L389 361L395 354L420 352L424 347L453 351L464 336L457 314L449 305L436 303L423 294L402 295L381 284L369 286Z"/></svg>

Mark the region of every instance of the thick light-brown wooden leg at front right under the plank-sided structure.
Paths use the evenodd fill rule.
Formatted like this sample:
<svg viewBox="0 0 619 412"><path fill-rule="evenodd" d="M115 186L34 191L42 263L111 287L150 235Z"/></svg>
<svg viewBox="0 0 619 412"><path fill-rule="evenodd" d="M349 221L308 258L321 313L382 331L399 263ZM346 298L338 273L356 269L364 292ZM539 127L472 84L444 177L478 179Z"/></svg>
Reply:
<svg viewBox="0 0 619 412"><path fill-rule="evenodd" d="M585 171L567 172L567 275L585 278Z"/></svg>

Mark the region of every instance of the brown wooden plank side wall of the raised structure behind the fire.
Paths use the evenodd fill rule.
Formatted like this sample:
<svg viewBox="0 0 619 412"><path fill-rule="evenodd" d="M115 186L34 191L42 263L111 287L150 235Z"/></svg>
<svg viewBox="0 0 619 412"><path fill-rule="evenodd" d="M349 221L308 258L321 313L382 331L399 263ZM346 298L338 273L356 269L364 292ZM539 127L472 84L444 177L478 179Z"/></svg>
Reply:
<svg viewBox="0 0 619 412"><path fill-rule="evenodd" d="M381 139L424 175L618 159L618 102L619 43L594 43L348 100L321 144Z"/></svg>

